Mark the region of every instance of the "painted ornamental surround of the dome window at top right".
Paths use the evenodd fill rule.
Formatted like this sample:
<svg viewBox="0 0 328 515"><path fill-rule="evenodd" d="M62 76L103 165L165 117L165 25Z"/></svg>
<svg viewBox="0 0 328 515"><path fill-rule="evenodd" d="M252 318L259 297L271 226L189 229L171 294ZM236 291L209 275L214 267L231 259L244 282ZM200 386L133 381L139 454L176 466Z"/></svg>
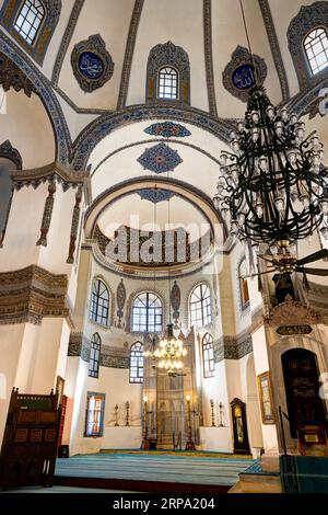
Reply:
<svg viewBox="0 0 328 515"><path fill-rule="evenodd" d="M328 67L316 75L312 73L303 46L307 34L316 27L325 27L328 32L328 2L320 1L314 2L312 5L303 5L288 28L289 49L301 90L328 73Z"/></svg>

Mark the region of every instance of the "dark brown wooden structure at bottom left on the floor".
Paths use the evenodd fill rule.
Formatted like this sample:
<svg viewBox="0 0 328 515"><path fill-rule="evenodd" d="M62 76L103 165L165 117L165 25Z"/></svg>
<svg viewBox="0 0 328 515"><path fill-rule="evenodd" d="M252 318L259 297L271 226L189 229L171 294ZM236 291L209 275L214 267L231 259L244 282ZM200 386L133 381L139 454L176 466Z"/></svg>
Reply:
<svg viewBox="0 0 328 515"><path fill-rule="evenodd" d="M61 420L58 394L11 393L0 455L0 487L51 487Z"/></svg>

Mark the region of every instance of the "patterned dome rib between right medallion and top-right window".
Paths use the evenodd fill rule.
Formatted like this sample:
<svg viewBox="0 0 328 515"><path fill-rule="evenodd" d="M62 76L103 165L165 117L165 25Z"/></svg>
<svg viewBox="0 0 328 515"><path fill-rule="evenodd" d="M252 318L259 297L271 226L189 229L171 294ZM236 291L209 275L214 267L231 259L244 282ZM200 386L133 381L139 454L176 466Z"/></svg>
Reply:
<svg viewBox="0 0 328 515"><path fill-rule="evenodd" d="M276 26L274 26L271 9L270 9L268 0L258 0L258 1L259 1L259 7L261 10L262 19L265 22L265 27L266 27L267 35L268 35L269 45L270 45L271 54L273 57L273 62L276 66L276 70L277 70L280 87L281 87L282 101L288 102L291 98L289 81L288 81L286 71L285 71L285 67L284 67L282 55L281 55L279 41L277 37L277 32L276 32Z"/></svg>

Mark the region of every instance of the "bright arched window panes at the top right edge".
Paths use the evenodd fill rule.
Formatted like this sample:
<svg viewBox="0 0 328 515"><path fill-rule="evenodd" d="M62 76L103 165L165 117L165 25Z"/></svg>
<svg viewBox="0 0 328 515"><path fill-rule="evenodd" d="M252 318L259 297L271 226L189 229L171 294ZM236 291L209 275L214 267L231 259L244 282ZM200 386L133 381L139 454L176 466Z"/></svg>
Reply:
<svg viewBox="0 0 328 515"><path fill-rule="evenodd" d="M304 49L313 75L328 66L328 37L323 27L315 28L304 39Z"/></svg>

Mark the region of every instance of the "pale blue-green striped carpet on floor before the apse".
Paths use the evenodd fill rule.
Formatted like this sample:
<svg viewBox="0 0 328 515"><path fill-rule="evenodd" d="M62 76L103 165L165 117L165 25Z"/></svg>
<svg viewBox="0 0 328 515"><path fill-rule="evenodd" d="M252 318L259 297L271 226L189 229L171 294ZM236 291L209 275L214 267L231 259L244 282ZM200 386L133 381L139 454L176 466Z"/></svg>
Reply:
<svg viewBox="0 0 328 515"><path fill-rule="evenodd" d="M148 487L155 483L232 487L238 481L239 472L253 462L255 461L249 458L223 458L218 455L214 459L213 456L185 456L185 453L112 453L58 459L55 474L59 483L65 478L89 478L122 480L129 485L131 481L136 481ZM85 484L86 482L83 483Z"/></svg>

